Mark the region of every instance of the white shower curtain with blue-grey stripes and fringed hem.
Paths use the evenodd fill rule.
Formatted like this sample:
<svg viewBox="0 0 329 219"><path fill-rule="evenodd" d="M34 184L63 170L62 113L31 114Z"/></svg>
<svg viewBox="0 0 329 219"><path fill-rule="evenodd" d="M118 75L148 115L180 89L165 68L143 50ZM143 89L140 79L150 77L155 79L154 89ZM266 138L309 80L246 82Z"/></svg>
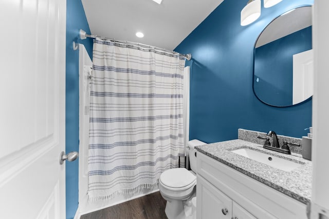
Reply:
<svg viewBox="0 0 329 219"><path fill-rule="evenodd" d="M95 39L90 88L90 200L157 185L184 156L185 59Z"/></svg>

